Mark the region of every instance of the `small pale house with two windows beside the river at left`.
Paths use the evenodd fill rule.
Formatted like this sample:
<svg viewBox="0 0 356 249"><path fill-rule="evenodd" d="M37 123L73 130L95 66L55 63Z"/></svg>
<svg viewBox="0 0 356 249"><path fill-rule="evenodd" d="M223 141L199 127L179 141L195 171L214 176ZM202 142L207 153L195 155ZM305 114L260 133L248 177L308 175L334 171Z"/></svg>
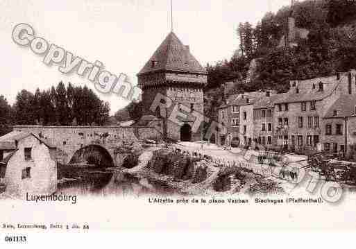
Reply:
<svg viewBox="0 0 356 249"><path fill-rule="evenodd" d="M12 131L0 137L0 181L18 198L57 190L56 147L33 135Z"/></svg>

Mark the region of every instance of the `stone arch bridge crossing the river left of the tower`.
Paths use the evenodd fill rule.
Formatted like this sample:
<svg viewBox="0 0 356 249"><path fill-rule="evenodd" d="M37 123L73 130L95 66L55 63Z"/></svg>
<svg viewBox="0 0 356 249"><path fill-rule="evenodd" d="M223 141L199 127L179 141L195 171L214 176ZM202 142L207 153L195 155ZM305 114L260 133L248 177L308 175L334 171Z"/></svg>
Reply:
<svg viewBox="0 0 356 249"><path fill-rule="evenodd" d="M56 146L57 162L61 164L79 162L90 152L101 154L105 163L119 166L128 147L135 147L142 139L162 138L156 128L142 126L14 126L13 130L31 132Z"/></svg>

